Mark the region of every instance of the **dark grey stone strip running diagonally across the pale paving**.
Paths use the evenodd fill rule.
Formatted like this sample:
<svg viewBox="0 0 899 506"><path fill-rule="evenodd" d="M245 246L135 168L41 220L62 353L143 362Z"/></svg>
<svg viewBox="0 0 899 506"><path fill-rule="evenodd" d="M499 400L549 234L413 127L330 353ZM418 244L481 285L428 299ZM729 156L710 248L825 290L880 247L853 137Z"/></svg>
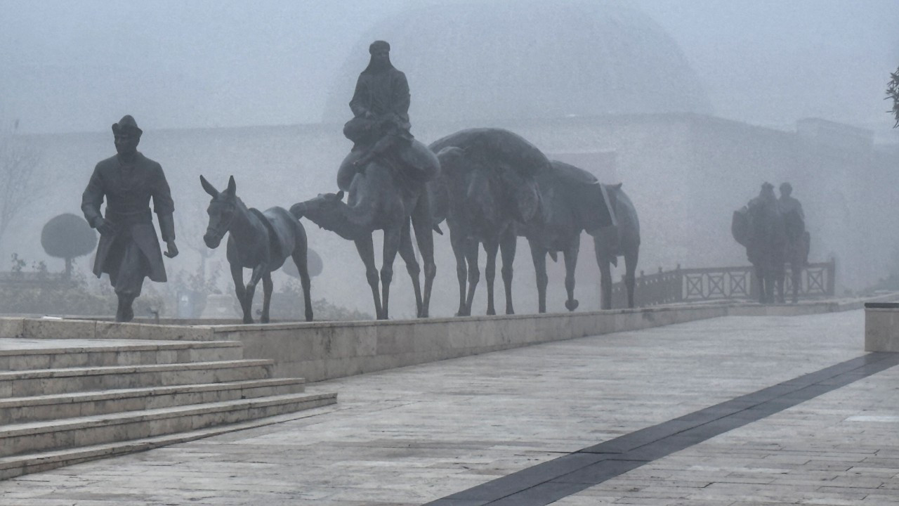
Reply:
<svg viewBox="0 0 899 506"><path fill-rule="evenodd" d="M522 469L426 506L544 506L896 365L899 353L852 358Z"/></svg>

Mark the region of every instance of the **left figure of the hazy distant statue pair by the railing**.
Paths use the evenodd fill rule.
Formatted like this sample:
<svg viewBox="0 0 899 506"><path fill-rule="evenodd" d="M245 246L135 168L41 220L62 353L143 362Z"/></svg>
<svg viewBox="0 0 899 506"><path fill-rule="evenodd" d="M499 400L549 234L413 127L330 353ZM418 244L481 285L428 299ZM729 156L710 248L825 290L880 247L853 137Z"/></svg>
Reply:
<svg viewBox="0 0 899 506"><path fill-rule="evenodd" d="M773 185L761 185L758 197L734 211L731 233L746 248L746 257L755 267L759 303L774 303L775 284L784 276L787 233Z"/></svg>

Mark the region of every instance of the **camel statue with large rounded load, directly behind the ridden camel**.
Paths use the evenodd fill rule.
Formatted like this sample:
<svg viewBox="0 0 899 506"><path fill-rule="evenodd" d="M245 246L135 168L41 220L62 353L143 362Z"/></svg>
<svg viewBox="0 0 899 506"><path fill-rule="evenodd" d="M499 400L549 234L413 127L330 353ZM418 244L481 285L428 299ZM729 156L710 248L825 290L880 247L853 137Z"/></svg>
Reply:
<svg viewBox="0 0 899 506"><path fill-rule="evenodd" d="M441 176L429 185L437 203L434 226L446 219L449 241L456 256L458 316L471 314L480 279L477 267L481 244L487 255L487 314L494 308L496 253L502 252L506 314L512 307L512 261L516 240L514 223L534 219L540 209L537 174L549 160L520 136L494 128L458 131L432 142L441 161Z"/></svg>

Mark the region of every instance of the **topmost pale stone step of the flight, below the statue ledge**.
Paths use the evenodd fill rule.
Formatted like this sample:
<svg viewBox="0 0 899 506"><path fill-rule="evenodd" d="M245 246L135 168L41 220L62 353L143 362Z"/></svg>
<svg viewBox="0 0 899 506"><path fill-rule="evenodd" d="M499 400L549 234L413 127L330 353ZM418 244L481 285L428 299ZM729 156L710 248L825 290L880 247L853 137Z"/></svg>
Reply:
<svg viewBox="0 0 899 506"><path fill-rule="evenodd" d="M212 362L243 357L243 347L236 341L0 349L0 371Z"/></svg>

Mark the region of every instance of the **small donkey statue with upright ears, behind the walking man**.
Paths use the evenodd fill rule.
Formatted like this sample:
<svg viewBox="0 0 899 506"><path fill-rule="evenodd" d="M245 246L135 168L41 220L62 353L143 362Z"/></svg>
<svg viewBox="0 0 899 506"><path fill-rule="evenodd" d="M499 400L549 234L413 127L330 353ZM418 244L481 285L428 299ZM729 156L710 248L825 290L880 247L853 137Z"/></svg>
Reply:
<svg viewBox="0 0 899 506"><path fill-rule="evenodd" d="M269 322L271 303L271 273L293 258L303 287L306 305L306 321L312 321L312 299L309 296L309 272L307 268L307 239L303 225L282 207L271 207L265 212L247 209L236 195L234 176L228 178L227 188L219 192L200 176L200 185L212 196L209 202L209 226L203 242L209 248L218 248L221 239L227 238L227 261L234 278L234 289L240 307L244 311L244 323L253 323L253 296L259 280L263 281L263 313L260 321ZM250 282L244 286L244 269L253 269Z"/></svg>

